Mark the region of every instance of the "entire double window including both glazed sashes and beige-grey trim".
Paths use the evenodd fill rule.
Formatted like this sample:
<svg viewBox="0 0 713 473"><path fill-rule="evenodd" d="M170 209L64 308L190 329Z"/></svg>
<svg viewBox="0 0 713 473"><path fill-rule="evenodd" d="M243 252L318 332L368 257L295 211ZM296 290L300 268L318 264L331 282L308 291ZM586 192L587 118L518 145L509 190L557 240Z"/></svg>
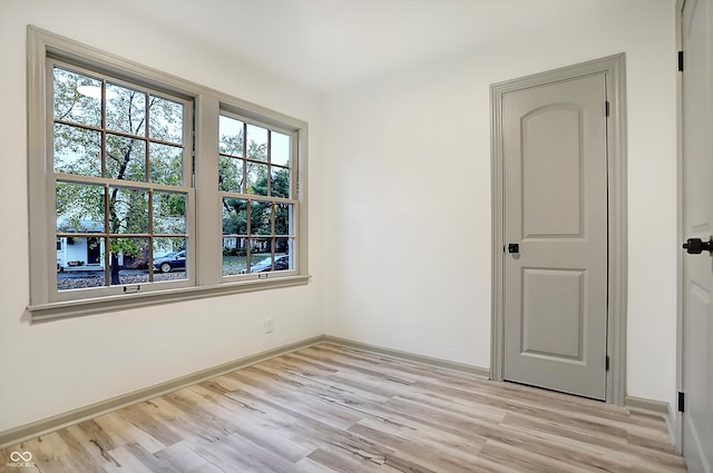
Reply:
<svg viewBox="0 0 713 473"><path fill-rule="evenodd" d="M29 38L32 319L307 282L306 124Z"/></svg>

